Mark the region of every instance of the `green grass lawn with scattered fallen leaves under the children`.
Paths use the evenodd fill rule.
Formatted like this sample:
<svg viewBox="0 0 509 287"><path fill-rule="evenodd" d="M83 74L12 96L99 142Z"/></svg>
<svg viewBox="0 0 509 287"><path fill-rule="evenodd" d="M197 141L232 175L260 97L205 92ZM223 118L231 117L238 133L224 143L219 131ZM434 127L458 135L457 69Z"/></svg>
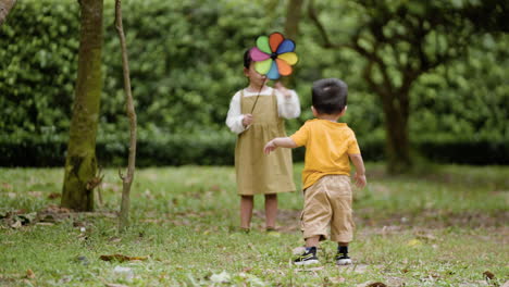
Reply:
<svg viewBox="0 0 509 287"><path fill-rule="evenodd" d="M294 167L300 187L302 164ZM69 213L57 205L62 169L0 169L0 286L470 287L509 280L509 166L433 165L397 177L378 163L367 170L368 188L355 191L355 264L336 266L336 247L326 241L320 265L297 267L290 261L303 245L301 194L278 196L278 235L263 232L262 197L256 197L251 233L237 233L233 167L137 170L132 225L123 234L116 230L116 170L104 172L96 212ZM112 254L125 257L101 259Z"/></svg>

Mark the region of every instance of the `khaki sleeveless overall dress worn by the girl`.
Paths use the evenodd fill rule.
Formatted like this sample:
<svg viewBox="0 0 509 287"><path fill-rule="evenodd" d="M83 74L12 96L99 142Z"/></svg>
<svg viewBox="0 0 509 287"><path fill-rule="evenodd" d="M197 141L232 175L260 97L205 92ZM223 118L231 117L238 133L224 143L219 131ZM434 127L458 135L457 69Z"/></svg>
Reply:
<svg viewBox="0 0 509 287"><path fill-rule="evenodd" d="M241 113L251 113L257 100L240 93ZM295 191L291 150L278 148L263 153L265 144L275 137L286 137L284 120L278 116L275 91L258 96L251 126L238 135L235 147L237 191L243 196Z"/></svg>

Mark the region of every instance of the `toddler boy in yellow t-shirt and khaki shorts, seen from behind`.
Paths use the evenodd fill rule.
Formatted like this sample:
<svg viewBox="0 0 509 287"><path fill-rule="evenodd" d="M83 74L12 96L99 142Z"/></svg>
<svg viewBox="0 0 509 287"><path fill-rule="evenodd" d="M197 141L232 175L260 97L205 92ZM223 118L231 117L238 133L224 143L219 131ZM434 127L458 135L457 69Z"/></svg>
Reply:
<svg viewBox="0 0 509 287"><path fill-rule="evenodd" d="M359 188L367 184L364 164L353 130L337 123L347 110L347 85L336 78L316 80L312 88L313 115L290 137L274 138L264 147L269 154L278 147L306 146L302 190L305 207L301 227L306 252L297 258L296 265L319 263L316 247L327 236L338 242L336 263L351 264L348 244L353 237L351 212L350 162L356 166L353 179Z"/></svg>

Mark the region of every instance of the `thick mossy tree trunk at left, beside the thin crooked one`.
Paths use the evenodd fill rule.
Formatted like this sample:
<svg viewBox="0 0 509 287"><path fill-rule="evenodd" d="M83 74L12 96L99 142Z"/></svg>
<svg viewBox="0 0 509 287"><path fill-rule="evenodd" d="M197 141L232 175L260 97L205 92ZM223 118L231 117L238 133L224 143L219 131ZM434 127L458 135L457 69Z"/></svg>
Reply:
<svg viewBox="0 0 509 287"><path fill-rule="evenodd" d="M71 122L62 207L94 210L96 134L102 90L102 0L80 0L78 74Z"/></svg>

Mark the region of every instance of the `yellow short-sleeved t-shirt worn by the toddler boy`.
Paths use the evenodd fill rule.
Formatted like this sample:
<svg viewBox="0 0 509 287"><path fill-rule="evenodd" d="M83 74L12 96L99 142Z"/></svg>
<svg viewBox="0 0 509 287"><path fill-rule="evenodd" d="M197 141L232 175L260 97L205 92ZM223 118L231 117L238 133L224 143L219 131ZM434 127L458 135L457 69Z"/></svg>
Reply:
<svg viewBox="0 0 509 287"><path fill-rule="evenodd" d="M348 154L360 154L356 135L345 123L310 120L290 138L297 147L306 147L302 189L310 187L324 175L350 175Z"/></svg>

